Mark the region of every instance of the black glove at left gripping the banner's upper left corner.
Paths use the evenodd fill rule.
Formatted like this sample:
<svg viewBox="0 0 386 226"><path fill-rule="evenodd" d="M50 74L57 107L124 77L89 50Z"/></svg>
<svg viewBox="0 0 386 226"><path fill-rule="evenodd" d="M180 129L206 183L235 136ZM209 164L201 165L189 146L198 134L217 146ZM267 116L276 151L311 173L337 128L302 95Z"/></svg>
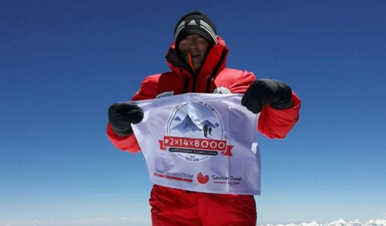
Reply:
<svg viewBox="0 0 386 226"><path fill-rule="evenodd" d="M109 107L109 121L113 131L119 136L128 136L133 130L131 124L143 119L143 111L132 103L114 103Z"/></svg>

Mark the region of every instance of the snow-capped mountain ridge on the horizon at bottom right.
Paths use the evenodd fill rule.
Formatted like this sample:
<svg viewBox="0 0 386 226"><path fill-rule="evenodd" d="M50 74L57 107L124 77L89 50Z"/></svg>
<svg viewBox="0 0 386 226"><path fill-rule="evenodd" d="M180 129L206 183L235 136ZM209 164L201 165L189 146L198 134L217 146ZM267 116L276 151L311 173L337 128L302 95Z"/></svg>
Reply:
<svg viewBox="0 0 386 226"><path fill-rule="evenodd" d="M370 219L362 221L354 219L352 221L346 221L345 219L338 219L332 222L318 223L311 221L309 223L303 222L301 224L289 223L289 224L265 224L260 226L386 226L386 219Z"/></svg>

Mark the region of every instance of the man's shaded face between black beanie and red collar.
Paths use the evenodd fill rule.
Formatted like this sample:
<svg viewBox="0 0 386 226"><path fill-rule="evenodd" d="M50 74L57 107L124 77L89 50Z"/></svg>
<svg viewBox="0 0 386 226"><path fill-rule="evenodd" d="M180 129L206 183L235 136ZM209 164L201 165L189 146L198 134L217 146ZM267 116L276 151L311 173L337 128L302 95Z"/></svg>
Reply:
<svg viewBox="0 0 386 226"><path fill-rule="evenodd" d="M195 70L201 68L205 55L209 48L209 42L201 35L189 35L178 43L179 52L183 55L190 53L191 63ZM189 62L187 61L189 64Z"/></svg>

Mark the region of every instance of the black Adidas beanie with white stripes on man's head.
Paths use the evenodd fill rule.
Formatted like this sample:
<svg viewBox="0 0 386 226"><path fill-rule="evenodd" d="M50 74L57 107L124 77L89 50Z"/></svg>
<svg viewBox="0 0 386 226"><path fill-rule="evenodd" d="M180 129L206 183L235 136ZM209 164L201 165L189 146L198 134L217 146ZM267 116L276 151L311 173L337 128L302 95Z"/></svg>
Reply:
<svg viewBox="0 0 386 226"><path fill-rule="evenodd" d="M175 49L178 43L189 35L198 34L208 40L210 44L217 44L216 26L211 19L201 11L190 12L179 19L174 28Z"/></svg>

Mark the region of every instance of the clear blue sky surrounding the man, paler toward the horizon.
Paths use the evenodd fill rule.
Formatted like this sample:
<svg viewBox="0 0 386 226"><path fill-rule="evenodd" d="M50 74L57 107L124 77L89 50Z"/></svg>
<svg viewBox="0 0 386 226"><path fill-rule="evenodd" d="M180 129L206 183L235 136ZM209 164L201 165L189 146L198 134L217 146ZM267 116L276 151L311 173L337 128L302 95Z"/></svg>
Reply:
<svg viewBox="0 0 386 226"><path fill-rule="evenodd" d="M168 70L174 25L195 9L228 67L302 99L286 139L258 137L258 224L385 217L384 1L2 1L0 225L148 224L144 158L109 143L107 108Z"/></svg>

